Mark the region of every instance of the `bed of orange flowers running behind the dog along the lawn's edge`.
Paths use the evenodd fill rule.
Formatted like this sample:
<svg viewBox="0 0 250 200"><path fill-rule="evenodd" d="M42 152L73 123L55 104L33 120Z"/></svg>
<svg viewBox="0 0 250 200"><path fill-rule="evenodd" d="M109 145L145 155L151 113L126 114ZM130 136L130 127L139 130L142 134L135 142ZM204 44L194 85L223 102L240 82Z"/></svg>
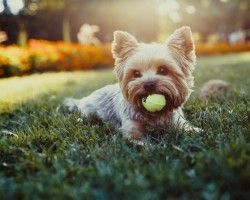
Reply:
<svg viewBox="0 0 250 200"><path fill-rule="evenodd" d="M250 51L250 44L196 44L198 56L242 51ZM104 67L113 67L110 44L90 46L30 40L26 48L0 46L0 77Z"/></svg>

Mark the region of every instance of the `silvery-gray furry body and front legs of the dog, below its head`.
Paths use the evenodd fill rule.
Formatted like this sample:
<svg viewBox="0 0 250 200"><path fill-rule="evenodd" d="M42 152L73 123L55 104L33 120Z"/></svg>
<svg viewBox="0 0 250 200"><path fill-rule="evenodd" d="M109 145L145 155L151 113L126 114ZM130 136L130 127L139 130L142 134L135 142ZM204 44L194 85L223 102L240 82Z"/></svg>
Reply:
<svg viewBox="0 0 250 200"><path fill-rule="evenodd" d="M127 137L130 137L131 129L135 128L134 122L157 129L170 129L172 127L185 128L187 130L195 129L190 128L186 123L181 108L160 115L157 119L136 111L124 99L118 83L98 89L80 100L67 98L64 101L64 105L68 107L69 111L78 111L84 117L93 114L98 116L103 122L112 123Z"/></svg>

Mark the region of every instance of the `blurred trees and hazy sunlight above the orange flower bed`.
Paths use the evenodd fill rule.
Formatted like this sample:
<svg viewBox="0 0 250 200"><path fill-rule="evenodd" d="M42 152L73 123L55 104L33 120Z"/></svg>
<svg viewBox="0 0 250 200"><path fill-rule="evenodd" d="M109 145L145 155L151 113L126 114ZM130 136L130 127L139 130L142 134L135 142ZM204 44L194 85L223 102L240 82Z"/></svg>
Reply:
<svg viewBox="0 0 250 200"><path fill-rule="evenodd" d="M250 1L0 0L0 29L8 35L4 44L22 44L24 35L78 42L85 23L100 27L101 42L110 42L117 29L144 41L163 40L182 25L191 26L198 41L238 42L250 40Z"/></svg>

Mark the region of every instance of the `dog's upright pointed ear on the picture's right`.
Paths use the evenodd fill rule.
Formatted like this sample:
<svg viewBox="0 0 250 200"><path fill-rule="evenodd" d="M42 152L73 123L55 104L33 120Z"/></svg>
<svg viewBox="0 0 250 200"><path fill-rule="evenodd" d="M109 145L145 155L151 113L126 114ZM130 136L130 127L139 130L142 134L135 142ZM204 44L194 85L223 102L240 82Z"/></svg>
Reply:
<svg viewBox="0 0 250 200"><path fill-rule="evenodd" d="M195 64L195 47L190 27L183 26L177 29L164 44L172 49L175 54L184 56L190 64Z"/></svg>

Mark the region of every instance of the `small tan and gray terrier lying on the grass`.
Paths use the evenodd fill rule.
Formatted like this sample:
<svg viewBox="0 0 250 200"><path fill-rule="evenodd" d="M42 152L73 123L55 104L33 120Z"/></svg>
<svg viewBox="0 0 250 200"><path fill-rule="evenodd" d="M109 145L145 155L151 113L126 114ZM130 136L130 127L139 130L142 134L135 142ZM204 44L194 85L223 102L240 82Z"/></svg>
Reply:
<svg viewBox="0 0 250 200"><path fill-rule="evenodd" d="M128 32L115 31L112 43L114 74L118 83L107 85L82 99L67 98L64 105L83 117L111 122L125 137L141 142L146 127L200 132L184 118L182 106L194 86L196 56L190 27L181 27L162 43L139 43ZM160 111L149 112L142 98L165 96Z"/></svg>

